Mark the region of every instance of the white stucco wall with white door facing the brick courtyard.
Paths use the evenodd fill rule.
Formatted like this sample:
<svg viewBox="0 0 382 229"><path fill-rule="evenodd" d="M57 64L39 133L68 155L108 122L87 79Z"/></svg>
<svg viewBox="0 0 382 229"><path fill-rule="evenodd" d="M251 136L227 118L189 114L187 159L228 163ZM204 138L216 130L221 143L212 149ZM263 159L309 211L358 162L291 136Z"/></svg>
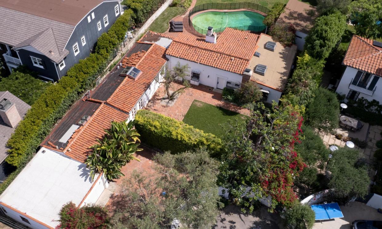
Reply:
<svg viewBox="0 0 382 229"><path fill-rule="evenodd" d="M195 62L183 60L183 59L176 58L173 56L166 55L166 57L169 60L168 65L167 65L169 69L172 69L179 62L181 65L188 65L189 66L189 74L191 74L191 71L193 71L193 70L199 71L200 72L199 84L203 84L203 85L206 85L209 87L217 88L217 86L218 86L217 85L217 77L220 77L223 79L222 83L220 83L220 84L223 84L223 87L220 87L221 89L223 89L226 86L227 81L236 82L236 83L241 84L241 79L243 76L241 76L239 74L231 73L231 72L224 71L224 70L217 69L217 68L212 68L210 66L201 65L201 64L198 64ZM186 77L186 79L190 80L191 76Z"/></svg>

